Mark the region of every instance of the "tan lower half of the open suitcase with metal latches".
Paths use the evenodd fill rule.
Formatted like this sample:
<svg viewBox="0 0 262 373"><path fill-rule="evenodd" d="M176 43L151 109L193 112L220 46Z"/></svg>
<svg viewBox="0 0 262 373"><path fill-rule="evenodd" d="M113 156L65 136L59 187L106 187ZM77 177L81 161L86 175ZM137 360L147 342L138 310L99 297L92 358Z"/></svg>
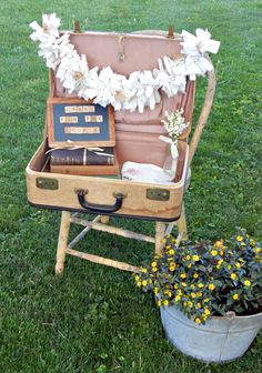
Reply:
<svg viewBox="0 0 262 373"><path fill-rule="evenodd" d="M188 144L179 143L179 162L172 184L155 184L112 178L52 173L47 168L47 142L42 143L27 167L28 200L32 205L109 214L155 221L180 218L188 171ZM84 193L80 204L79 191ZM115 195L122 195L121 206L111 212L102 206L114 206Z"/></svg>

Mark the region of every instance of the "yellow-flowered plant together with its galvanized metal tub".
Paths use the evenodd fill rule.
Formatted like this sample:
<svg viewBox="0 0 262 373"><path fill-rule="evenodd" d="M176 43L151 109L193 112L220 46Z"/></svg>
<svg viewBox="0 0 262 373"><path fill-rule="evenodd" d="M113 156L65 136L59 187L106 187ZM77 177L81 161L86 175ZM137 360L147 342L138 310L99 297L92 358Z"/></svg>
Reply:
<svg viewBox="0 0 262 373"><path fill-rule="evenodd" d="M262 326L261 244L245 230L213 244L163 241L134 280L154 293L170 342L206 362L241 356Z"/></svg>

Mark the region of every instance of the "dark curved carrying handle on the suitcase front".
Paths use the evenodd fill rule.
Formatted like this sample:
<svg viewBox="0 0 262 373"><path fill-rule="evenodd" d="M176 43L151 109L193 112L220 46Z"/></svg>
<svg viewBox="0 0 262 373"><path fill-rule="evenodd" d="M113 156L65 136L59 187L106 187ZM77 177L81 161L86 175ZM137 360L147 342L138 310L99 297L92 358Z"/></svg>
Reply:
<svg viewBox="0 0 262 373"><path fill-rule="evenodd" d="M121 193L114 193L113 196L115 198L115 202L112 205L109 204L95 204L95 203L89 203L85 201L84 195L87 194L87 191L84 190L78 190L75 191L78 194L78 201L81 204L81 206L89 212L94 213L107 213L107 212L115 212L121 209L122 202L124 199L124 194Z"/></svg>

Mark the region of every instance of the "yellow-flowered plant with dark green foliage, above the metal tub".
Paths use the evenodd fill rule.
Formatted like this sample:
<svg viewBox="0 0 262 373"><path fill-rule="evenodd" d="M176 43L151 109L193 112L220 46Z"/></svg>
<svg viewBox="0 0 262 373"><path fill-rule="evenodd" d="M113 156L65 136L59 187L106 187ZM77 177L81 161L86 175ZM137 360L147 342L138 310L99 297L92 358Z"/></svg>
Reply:
<svg viewBox="0 0 262 373"><path fill-rule="evenodd" d="M241 230L229 240L179 243L168 235L162 254L134 275L137 285L155 294L159 306L175 305L188 319L252 315L262 311L262 249Z"/></svg>

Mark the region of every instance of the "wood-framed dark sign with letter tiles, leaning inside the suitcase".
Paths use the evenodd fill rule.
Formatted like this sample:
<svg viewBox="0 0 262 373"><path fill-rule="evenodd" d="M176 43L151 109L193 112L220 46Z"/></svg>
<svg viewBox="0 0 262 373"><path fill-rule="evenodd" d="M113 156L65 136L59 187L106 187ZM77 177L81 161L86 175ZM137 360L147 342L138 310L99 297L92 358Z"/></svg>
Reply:
<svg viewBox="0 0 262 373"><path fill-rule="evenodd" d="M114 147L112 107L82 99L48 99L49 147Z"/></svg>

